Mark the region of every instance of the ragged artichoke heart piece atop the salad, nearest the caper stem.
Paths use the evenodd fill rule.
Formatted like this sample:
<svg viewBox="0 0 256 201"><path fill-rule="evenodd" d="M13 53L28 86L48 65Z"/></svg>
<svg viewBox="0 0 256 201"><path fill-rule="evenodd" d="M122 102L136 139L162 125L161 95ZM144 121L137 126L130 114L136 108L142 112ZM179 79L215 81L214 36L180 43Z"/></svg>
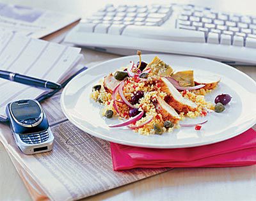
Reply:
<svg viewBox="0 0 256 201"><path fill-rule="evenodd" d="M159 57L154 57L154 59L147 64L145 70L149 68L151 68L150 75L171 76L173 73L172 67L164 63Z"/></svg>

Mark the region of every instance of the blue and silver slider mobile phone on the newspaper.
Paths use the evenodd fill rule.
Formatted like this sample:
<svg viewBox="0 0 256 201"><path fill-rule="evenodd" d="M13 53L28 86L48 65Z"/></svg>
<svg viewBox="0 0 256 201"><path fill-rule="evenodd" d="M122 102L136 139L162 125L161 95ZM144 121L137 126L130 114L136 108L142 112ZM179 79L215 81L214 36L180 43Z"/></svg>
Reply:
<svg viewBox="0 0 256 201"><path fill-rule="evenodd" d="M19 100L8 103L6 114L15 142L22 153L37 154L52 150L54 136L38 101Z"/></svg>

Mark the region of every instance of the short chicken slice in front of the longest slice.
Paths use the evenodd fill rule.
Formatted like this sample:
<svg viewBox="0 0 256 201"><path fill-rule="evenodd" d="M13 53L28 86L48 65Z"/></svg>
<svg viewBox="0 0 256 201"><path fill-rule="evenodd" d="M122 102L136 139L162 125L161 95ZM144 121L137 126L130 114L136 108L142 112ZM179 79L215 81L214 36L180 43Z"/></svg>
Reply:
<svg viewBox="0 0 256 201"><path fill-rule="evenodd" d="M180 120L180 115L173 109L172 106L168 105L160 96L157 96L156 111L159 112L164 121L172 121L177 123Z"/></svg>

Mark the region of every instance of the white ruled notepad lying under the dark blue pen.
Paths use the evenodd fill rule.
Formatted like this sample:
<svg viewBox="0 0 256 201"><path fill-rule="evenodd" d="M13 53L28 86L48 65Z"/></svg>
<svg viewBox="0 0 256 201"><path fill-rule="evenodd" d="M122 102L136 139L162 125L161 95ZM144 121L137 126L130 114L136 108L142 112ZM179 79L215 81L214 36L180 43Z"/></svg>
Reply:
<svg viewBox="0 0 256 201"><path fill-rule="evenodd" d="M81 48L28 38L12 32L0 33L0 69L61 82L77 64ZM35 99L49 89L31 87L0 78L0 117L6 118L10 101Z"/></svg>

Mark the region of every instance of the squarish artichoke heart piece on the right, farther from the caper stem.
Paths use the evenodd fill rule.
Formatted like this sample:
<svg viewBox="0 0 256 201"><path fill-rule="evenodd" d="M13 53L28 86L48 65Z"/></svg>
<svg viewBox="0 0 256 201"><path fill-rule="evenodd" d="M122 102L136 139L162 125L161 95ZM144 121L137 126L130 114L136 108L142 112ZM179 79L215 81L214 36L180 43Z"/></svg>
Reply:
<svg viewBox="0 0 256 201"><path fill-rule="evenodd" d="M179 85L182 87L195 86L193 70L178 71L173 73L172 77L175 78L175 80L177 80Z"/></svg>

